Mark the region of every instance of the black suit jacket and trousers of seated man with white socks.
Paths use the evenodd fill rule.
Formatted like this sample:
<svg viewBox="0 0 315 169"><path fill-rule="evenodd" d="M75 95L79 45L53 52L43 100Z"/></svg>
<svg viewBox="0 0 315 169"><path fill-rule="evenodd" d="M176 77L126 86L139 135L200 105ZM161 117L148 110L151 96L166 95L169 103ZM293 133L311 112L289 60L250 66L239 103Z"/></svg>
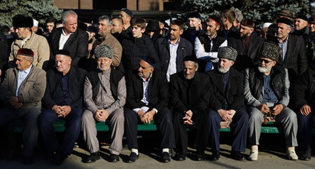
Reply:
<svg viewBox="0 0 315 169"><path fill-rule="evenodd" d="M128 147L138 149L137 125L139 117L133 109L146 106L158 110L153 117L156 127L161 132L162 148L174 148L175 138L172 124L172 113L167 108L169 102L169 90L166 80L166 73L162 70L154 69L148 84L148 99L146 105L141 102L143 98L142 79L137 75L137 71L129 72L126 75L127 100L125 109L125 134L128 141Z"/></svg>

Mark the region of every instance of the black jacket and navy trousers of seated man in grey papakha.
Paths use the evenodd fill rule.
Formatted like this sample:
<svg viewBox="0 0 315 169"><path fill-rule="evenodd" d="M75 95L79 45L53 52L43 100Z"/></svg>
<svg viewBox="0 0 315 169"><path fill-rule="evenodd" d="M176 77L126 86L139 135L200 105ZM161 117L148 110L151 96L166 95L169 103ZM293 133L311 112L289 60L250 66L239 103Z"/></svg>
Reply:
<svg viewBox="0 0 315 169"><path fill-rule="evenodd" d="M206 72L210 77L211 87L213 88L215 100L210 104L208 111L208 133L212 142L212 150L220 150L220 122L222 118L218 110L235 110L232 118L232 150L245 152L248 114L244 105L243 74L233 67L230 68L230 75L224 89L222 73L217 69Z"/></svg>

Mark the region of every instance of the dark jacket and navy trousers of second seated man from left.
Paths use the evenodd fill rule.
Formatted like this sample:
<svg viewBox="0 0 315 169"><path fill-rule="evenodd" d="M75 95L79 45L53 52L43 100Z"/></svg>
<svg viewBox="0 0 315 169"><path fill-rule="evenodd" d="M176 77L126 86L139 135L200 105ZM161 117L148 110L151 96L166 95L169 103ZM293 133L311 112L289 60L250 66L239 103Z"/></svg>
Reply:
<svg viewBox="0 0 315 169"><path fill-rule="evenodd" d="M47 87L45 96L43 97L45 109L38 117L38 126L49 152L59 151L70 155L81 130L83 85L86 71L84 69L71 66L68 73L69 96L65 96L61 94L63 93L61 88L62 73L57 71L56 68L47 71ZM60 96L64 96L63 101L61 101L62 97ZM70 103L71 101L72 103ZM71 112L66 117L58 117L58 114L52 110L54 105L70 106ZM66 121L65 134L61 144L57 139L53 126L57 120Z"/></svg>

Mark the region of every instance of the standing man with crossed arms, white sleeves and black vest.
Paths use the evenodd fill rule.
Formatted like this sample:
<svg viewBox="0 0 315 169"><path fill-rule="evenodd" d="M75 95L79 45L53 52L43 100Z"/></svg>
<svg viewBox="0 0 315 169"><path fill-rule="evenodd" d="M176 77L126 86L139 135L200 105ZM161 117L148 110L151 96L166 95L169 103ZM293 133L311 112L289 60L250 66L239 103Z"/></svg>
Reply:
<svg viewBox="0 0 315 169"><path fill-rule="evenodd" d="M216 16L210 16L205 21L204 33L198 35L195 39L194 53L198 60L198 71L206 72L217 67L218 49L227 46L228 41L218 36L217 31L220 30L220 19Z"/></svg>

